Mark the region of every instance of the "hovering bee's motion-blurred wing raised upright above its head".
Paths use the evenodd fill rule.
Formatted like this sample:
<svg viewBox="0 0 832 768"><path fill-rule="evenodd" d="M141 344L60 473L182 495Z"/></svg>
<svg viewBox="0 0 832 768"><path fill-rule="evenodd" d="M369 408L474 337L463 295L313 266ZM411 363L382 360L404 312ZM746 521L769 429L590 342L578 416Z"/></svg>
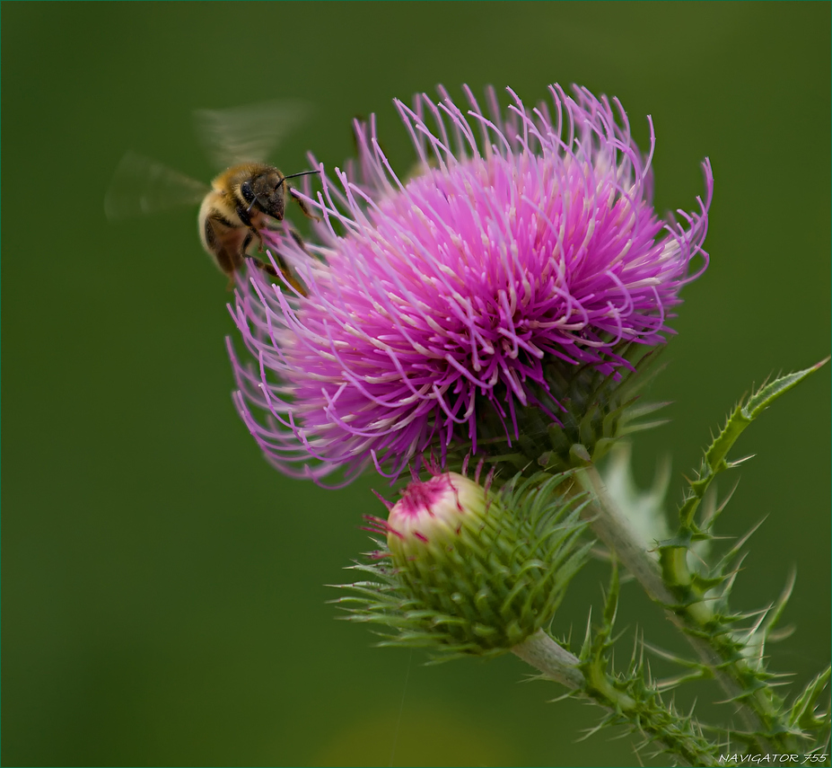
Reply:
<svg viewBox="0 0 832 768"><path fill-rule="evenodd" d="M264 163L311 114L305 102L262 102L230 110L197 110L197 134L217 169Z"/></svg>

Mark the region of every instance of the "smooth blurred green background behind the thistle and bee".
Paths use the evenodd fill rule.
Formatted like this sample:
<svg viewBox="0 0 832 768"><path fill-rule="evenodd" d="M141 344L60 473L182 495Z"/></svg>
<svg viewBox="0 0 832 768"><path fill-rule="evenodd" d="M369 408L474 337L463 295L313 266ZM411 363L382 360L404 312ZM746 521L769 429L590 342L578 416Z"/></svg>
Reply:
<svg viewBox="0 0 832 768"><path fill-rule="evenodd" d="M705 155L716 179L711 267L651 393L673 420L635 445L642 481L672 454L675 503L740 394L829 349L829 28L828 3L5 3L3 764L637 764L629 738L576 743L597 713L519 684L516 658L426 667L334 620L322 585L384 483L321 490L261 459L195 212L110 225L104 190L130 148L210 178L197 108L314 104L287 172L310 149L342 164L373 111L407 167L390 101L437 83L585 84L643 143L652 114L659 210L695 207ZM767 516L735 605L799 565L799 631L772 649L797 684L828 659L828 425L827 368L742 437L757 457L722 525ZM582 634L605 578L576 579L557 631ZM672 645L635 587L621 612L625 648L636 621Z"/></svg>

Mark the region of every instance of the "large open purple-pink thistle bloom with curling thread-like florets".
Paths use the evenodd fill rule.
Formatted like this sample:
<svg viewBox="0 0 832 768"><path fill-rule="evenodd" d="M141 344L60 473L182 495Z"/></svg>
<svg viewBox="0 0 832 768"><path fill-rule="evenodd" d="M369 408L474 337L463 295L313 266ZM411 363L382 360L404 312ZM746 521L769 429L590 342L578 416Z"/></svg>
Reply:
<svg viewBox="0 0 832 768"><path fill-rule="evenodd" d="M356 168L336 182L320 166L323 192L304 199L321 244L269 243L306 295L250 270L232 311L258 361L232 351L235 402L278 469L351 479L374 463L395 477L425 451L476 454L484 410L511 443L520 410L559 423L547 364L616 380L632 368L623 350L672 332L680 287L707 265L710 163L699 210L662 221L652 121L645 157L619 102L549 90L536 109L509 90L505 116L493 90L487 112L468 88L467 114L442 89L438 104L396 102L419 158L407 181L374 119L356 123Z"/></svg>

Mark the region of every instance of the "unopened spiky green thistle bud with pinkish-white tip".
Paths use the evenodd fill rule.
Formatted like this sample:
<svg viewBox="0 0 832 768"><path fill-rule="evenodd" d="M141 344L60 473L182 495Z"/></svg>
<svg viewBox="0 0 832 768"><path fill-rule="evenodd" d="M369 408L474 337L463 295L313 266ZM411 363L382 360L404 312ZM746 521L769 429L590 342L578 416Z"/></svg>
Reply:
<svg viewBox="0 0 832 768"><path fill-rule="evenodd" d="M368 518L387 535L376 563L359 566L375 579L346 585L361 596L338 602L395 628L383 644L484 656L526 640L551 622L590 544L578 545L581 499L557 493L565 476L520 481L411 482L387 521Z"/></svg>

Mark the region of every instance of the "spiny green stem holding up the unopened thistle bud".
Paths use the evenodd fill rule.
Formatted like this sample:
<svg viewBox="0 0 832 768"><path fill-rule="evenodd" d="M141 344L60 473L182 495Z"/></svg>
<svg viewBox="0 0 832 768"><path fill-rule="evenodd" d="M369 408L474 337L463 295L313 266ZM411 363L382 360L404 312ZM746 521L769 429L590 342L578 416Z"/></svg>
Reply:
<svg viewBox="0 0 832 768"><path fill-rule="evenodd" d="M579 668L581 660L561 648L545 631L537 631L512 648L512 653L549 679L589 696L611 713L611 722L626 724L644 733L684 764L719 765L714 746L693 728L684 728L675 712L665 709L652 696L635 701L619 690L616 682L603 671L596 673L593 668L593 674L585 676Z"/></svg>

